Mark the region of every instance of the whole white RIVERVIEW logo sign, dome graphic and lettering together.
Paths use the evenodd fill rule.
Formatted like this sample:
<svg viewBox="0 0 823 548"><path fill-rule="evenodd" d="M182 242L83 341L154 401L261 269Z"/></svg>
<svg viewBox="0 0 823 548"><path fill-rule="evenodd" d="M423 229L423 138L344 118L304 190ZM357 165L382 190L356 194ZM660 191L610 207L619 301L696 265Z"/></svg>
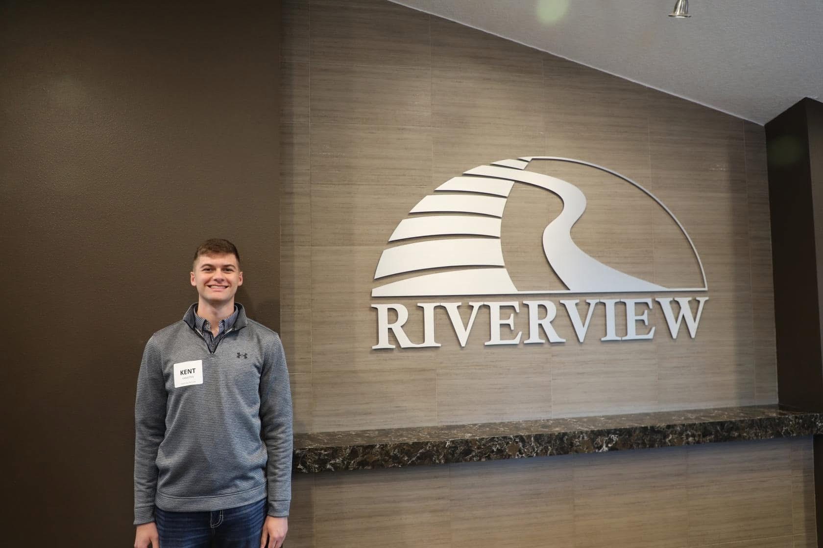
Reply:
<svg viewBox="0 0 823 548"><path fill-rule="evenodd" d="M583 191L570 182L543 173L525 171L532 160L555 160L578 163L597 168L619 177L643 191L650 200L654 200L677 223L691 251L700 266L702 287L667 288L657 283L639 279L625 274L618 269L603 264L581 250L572 240L571 228L586 210L586 196ZM519 291L509 276L503 260L500 245L500 226L509 193L515 184L531 185L552 192L563 200L563 210L549 223L542 234L542 252L554 269L566 289ZM697 254L694 243L686 233L680 221L672 212L653 196L628 177L593 163L577 159L556 158L551 156L528 156L520 159L505 159L491 165L478 166L453 177L435 189L430 196L425 196L409 212L412 216L403 219L389 237L388 242L402 242L414 239L411 243L401 243L383 251L374 273L374 279L383 281L388 277L407 275L403 279L382 283L375 287L372 297L450 297L459 295L551 295L551 294L591 294L591 293L655 293L662 292L706 292L703 263ZM454 236L444 238L444 236ZM434 273L425 273L437 269ZM423 272L424 274L420 274ZM411 275L409 275L411 274ZM579 342L583 343L588 332L588 325L598 305L606 315L606 334L603 341L635 340L653 338L655 328L649 328L648 312L653 301L663 311L672 338L677 338L681 325L685 323L691 338L695 338L704 302L709 297L651 297L598 299L587 298L583 306L585 320L578 308L579 299L560 299L565 307L570 323ZM672 301L677 306L672 306ZM691 301L695 302L692 310ZM616 333L616 306L625 305L626 334ZM488 306L491 313L491 344L518 344L523 333L514 338L501 338L503 325L514 330L514 312L519 312L520 302L469 302L471 315L467 324L459 314L461 302L421 302L424 325L422 343L412 343L402 327L408 320L409 311L399 303L373 304L377 309L378 343L372 348L395 348L389 342L388 332L394 334L401 348L439 347L435 341L435 309L443 308L449 316L455 334L461 346L465 346L474 325L477 311L481 306ZM543 334L549 343L563 343L564 338L557 334L551 325L557 315L557 306L549 300L525 300L528 307L529 337L523 343L545 343ZM501 318L501 308L514 310L508 317ZM396 312L396 319L389 320L389 311ZM642 312L641 312L642 310ZM638 325L637 322L643 322ZM638 329L645 331L639 333Z"/></svg>

